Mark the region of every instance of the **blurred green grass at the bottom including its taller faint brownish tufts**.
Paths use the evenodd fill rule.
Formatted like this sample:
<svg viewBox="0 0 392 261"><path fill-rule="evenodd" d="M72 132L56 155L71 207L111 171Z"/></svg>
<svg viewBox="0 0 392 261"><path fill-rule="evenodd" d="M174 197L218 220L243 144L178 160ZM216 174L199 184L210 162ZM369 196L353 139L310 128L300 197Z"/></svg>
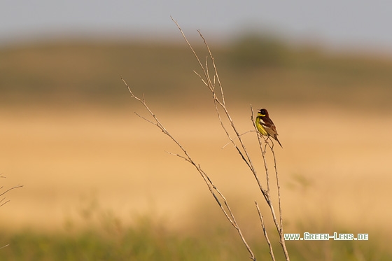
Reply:
<svg viewBox="0 0 392 261"><path fill-rule="evenodd" d="M80 218L66 220L64 230L40 232L0 229L0 260L246 260L248 251L237 231L223 215L214 216L208 207L197 206L193 222L176 229L158 215L133 215L124 225L113 211L99 206L94 195L86 198ZM95 222L98 221L98 222ZM81 227L79 225L82 225ZM272 223L266 223L276 260L284 260ZM295 231L290 231L295 230ZM257 260L271 260L260 224L243 224L242 232ZM332 231L318 220L288 223L286 232L353 233ZM388 234L370 230L368 241L286 241L290 260L391 260ZM8 245L8 246L6 246Z"/></svg>

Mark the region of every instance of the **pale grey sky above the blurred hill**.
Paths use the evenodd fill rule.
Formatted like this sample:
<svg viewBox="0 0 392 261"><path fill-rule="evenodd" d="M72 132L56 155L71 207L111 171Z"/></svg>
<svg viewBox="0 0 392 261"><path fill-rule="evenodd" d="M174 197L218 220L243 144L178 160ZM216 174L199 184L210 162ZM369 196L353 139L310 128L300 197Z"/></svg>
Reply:
<svg viewBox="0 0 392 261"><path fill-rule="evenodd" d="M186 34L201 29L210 41L250 26L332 47L392 52L389 0L1 0L0 44L64 35L180 37L170 15Z"/></svg>

